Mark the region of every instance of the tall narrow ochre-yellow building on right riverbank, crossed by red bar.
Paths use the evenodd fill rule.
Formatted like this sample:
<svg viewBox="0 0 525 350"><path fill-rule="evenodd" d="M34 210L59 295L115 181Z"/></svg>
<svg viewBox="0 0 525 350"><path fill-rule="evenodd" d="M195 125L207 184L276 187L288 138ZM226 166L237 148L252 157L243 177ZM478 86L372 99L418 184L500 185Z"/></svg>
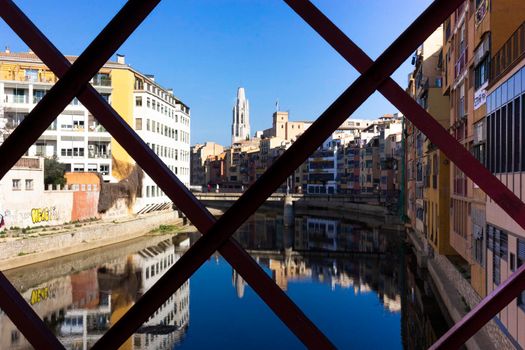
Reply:
<svg viewBox="0 0 525 350"><path fill-rule="evenodd" d="M441 126L448 128L449 102L448 97L441 92L442 45L443 26L440 26L416 51L410 93ZM427 238L436 253L453 255L455 251L450 246L449 238L449 160L425 135L419 132L416 134L417 142L409 143L409 147L417 149L409 153L413 155L410 159L415 163L410 168L415 169L417 174L409 178L416 180L413 195L416 197L416 207L423 225L413 227ZM413 186L409 184L409 187ZM412 213L415 212L412 210Z"/></svg>

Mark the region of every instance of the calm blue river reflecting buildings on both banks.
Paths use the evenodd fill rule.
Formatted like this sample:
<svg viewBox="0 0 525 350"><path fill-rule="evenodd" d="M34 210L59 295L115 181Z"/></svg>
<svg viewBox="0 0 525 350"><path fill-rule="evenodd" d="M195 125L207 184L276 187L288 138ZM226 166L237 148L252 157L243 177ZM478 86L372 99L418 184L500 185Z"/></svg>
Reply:
<svg viewBox="0 0 525 350"><path fill-rule="evenodd" d="M154 236L6 271L68 349L93 345L198 239ZM424 349L448 328L404 234L331 217L255 214L235 234L341 349ZM422 276L423 275L423 276ZM30 345L0 310L0 349ZM210 258L123 349L301 349L219 255Z"/></svg>

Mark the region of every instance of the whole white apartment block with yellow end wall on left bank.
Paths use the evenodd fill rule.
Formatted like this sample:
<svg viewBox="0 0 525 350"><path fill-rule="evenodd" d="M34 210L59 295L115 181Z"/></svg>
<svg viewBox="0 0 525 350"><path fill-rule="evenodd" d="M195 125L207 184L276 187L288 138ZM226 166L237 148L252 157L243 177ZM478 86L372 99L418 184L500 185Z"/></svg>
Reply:
<svg viewBox="0 0 525 350"><path fill-rule="evenodd" d="M73 62L76 57L67 57ZM53 87L57 77L32 52L0 52L0 142ZM122 55L108 61L91 84L136 130L162 161L189 186L190 111L173 95L125 63ZM105 182L132 174L135 161L106 132L78 99L73 99L27 152L57 157L71 172L98 172ZM171 206L169 198L145 176L137 184L134 212Z"/></svg>

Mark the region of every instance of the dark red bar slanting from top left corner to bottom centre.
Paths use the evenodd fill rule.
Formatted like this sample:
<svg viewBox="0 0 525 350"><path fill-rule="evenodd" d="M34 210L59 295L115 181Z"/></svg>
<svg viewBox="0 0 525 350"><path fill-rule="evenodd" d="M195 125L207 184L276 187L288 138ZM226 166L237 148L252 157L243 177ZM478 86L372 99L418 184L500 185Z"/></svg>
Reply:
<svg viewBox="0 0 525 350"><path fill-rule="evenodd" d="M6 22L15 32L21 35L21 38L28 46L57 76L62 77L70 66L69 61L61 55L58 49L12 1L9 0L6 3L8 6L5 7L5 11L2 13ZM115 139L128 150L131 156L134 159L138 159L138 164L150 174L179 209L187 213L194 225L201 232L205 233L215 222L215 218L191 192L187 191L186 187L136 135L134 130L120 118L105 100L100 98L100 95L92 86L87 85L85 91L81 92L78 98ZM233 238L230 238L230 241L219 251L305 345L309 347L332 347L329 340ZM146 309L141 309L141 312L149 317L165 299L162 297L156 298L158 305L155 303L148 305L151 312ZM130 324L128 323L126 326L130 327ZM140 327L140 323L137 325L138 327ZM106 346L118 347L125 339L125 337L121 339L112 337L111 344L106 344Z"/></svg>

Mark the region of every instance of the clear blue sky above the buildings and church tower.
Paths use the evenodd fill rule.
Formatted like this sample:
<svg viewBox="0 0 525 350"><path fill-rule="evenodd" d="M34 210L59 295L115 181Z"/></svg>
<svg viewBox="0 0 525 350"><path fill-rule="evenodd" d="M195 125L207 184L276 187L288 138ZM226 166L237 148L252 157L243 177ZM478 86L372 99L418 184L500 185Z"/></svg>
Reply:
<svg viewBox="0 0 525 350"><path fill-rule="evenodd" d="M122 0L18 0L64 53L78 55L125 3ZM431 0L317 0L314 3L376 58ZM0 21L0 48L27 46ZM118 50L154 74L192 109L192 144L229 144L237 87L250 100L252 133L271 125L275 101L292 120L313 120L358 76L293 10L278 0L164 0ZM409 61L393 78L403 87ZM374 94L354 118L395 108Z"/></svg>

